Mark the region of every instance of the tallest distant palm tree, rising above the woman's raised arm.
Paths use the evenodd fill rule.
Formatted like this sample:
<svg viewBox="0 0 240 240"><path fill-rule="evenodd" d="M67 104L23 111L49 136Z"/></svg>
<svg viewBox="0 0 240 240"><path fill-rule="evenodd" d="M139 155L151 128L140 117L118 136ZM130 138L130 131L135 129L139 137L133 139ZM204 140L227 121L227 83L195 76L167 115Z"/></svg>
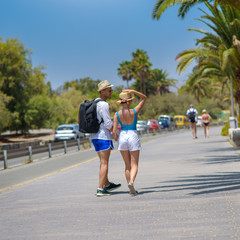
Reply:
<svg viewBox="0 0 240 240"><path fill-rule="evenodd" d="M139 80L140 92L146 94L146 80L150 76L151 63L149 57L144 50L137 49L132 53L132 76Z"/></svg>

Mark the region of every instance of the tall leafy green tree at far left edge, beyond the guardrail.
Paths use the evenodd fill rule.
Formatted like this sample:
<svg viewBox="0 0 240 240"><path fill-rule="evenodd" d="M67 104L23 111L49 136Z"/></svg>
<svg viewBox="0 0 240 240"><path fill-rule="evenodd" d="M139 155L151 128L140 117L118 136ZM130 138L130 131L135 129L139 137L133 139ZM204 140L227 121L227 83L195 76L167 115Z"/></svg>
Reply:
<svg viewBox="0 0 240 240"><path fill-rule="evenodd" d="M18 39L0 39L0 91L10 101L6 108L12 114L9 130L27 132L30 125L25 115L30 99L38 94L47 94L43 67L32 68L31 51L24 48Z"/></svg>

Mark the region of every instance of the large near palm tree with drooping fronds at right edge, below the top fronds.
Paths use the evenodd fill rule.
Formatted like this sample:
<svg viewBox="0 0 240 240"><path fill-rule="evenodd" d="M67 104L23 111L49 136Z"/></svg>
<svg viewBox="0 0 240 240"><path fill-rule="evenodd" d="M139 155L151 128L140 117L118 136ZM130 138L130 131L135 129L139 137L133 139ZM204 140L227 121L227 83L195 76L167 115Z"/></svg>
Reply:
<svg viewBox="0 0 240 240"><path fill-rule="evenodd" d="M233 36L240 36L239 19L240 11L234 8L227 8L220 5L221 11L215 6L205 2L205 5L211 11L212 15L205 13L200 20L210 27L215 34L199 29L190 29L204 34L204 37L197 40L197 44L201 47L189 49L177 56L178 71L181 73L193 61L197 60L197 68L201 73L207 73L208 77L214 74L221 76L225 83L226 78L231 81L233 79L235 88L235 98L240 103L240 54L237 46L233 45ZM236 37L235 45L237 45ZM201 75L199 75L201 78ZM226 84L225 84L226 85Z"/></svg>

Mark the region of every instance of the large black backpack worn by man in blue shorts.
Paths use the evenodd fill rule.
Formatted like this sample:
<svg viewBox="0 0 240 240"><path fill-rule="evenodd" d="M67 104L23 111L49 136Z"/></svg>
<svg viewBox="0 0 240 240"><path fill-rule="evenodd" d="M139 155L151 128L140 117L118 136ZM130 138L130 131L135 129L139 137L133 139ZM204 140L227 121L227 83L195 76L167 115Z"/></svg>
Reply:
<svg viewBox="0 0 240 240"><path fill-rule="evenodd" d="M97 133L100 124L97 119L97 103L103 99L85 100L79 108L79 131L83 133Z"/></svg>

